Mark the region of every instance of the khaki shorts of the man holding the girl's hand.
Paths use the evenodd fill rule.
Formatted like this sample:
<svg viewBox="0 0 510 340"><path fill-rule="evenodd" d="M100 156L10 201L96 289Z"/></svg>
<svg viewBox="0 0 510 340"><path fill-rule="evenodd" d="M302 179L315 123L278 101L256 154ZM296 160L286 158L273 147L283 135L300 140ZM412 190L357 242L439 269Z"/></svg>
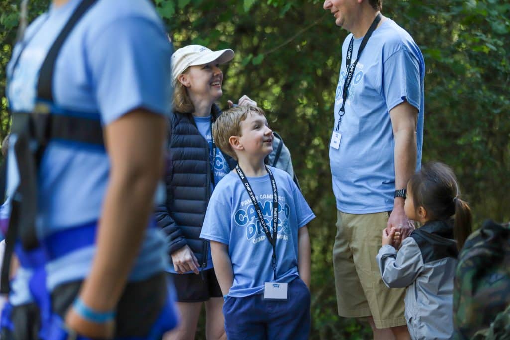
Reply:
<svg viewBox="0 0 510 340"><path fill-rule="evenodd" d="M388 212L347 214L337 211L333 266L338 315L372 316L377 328L405 325L403 289L389 289L382 281L375 255L381 247Z"/></svg>

